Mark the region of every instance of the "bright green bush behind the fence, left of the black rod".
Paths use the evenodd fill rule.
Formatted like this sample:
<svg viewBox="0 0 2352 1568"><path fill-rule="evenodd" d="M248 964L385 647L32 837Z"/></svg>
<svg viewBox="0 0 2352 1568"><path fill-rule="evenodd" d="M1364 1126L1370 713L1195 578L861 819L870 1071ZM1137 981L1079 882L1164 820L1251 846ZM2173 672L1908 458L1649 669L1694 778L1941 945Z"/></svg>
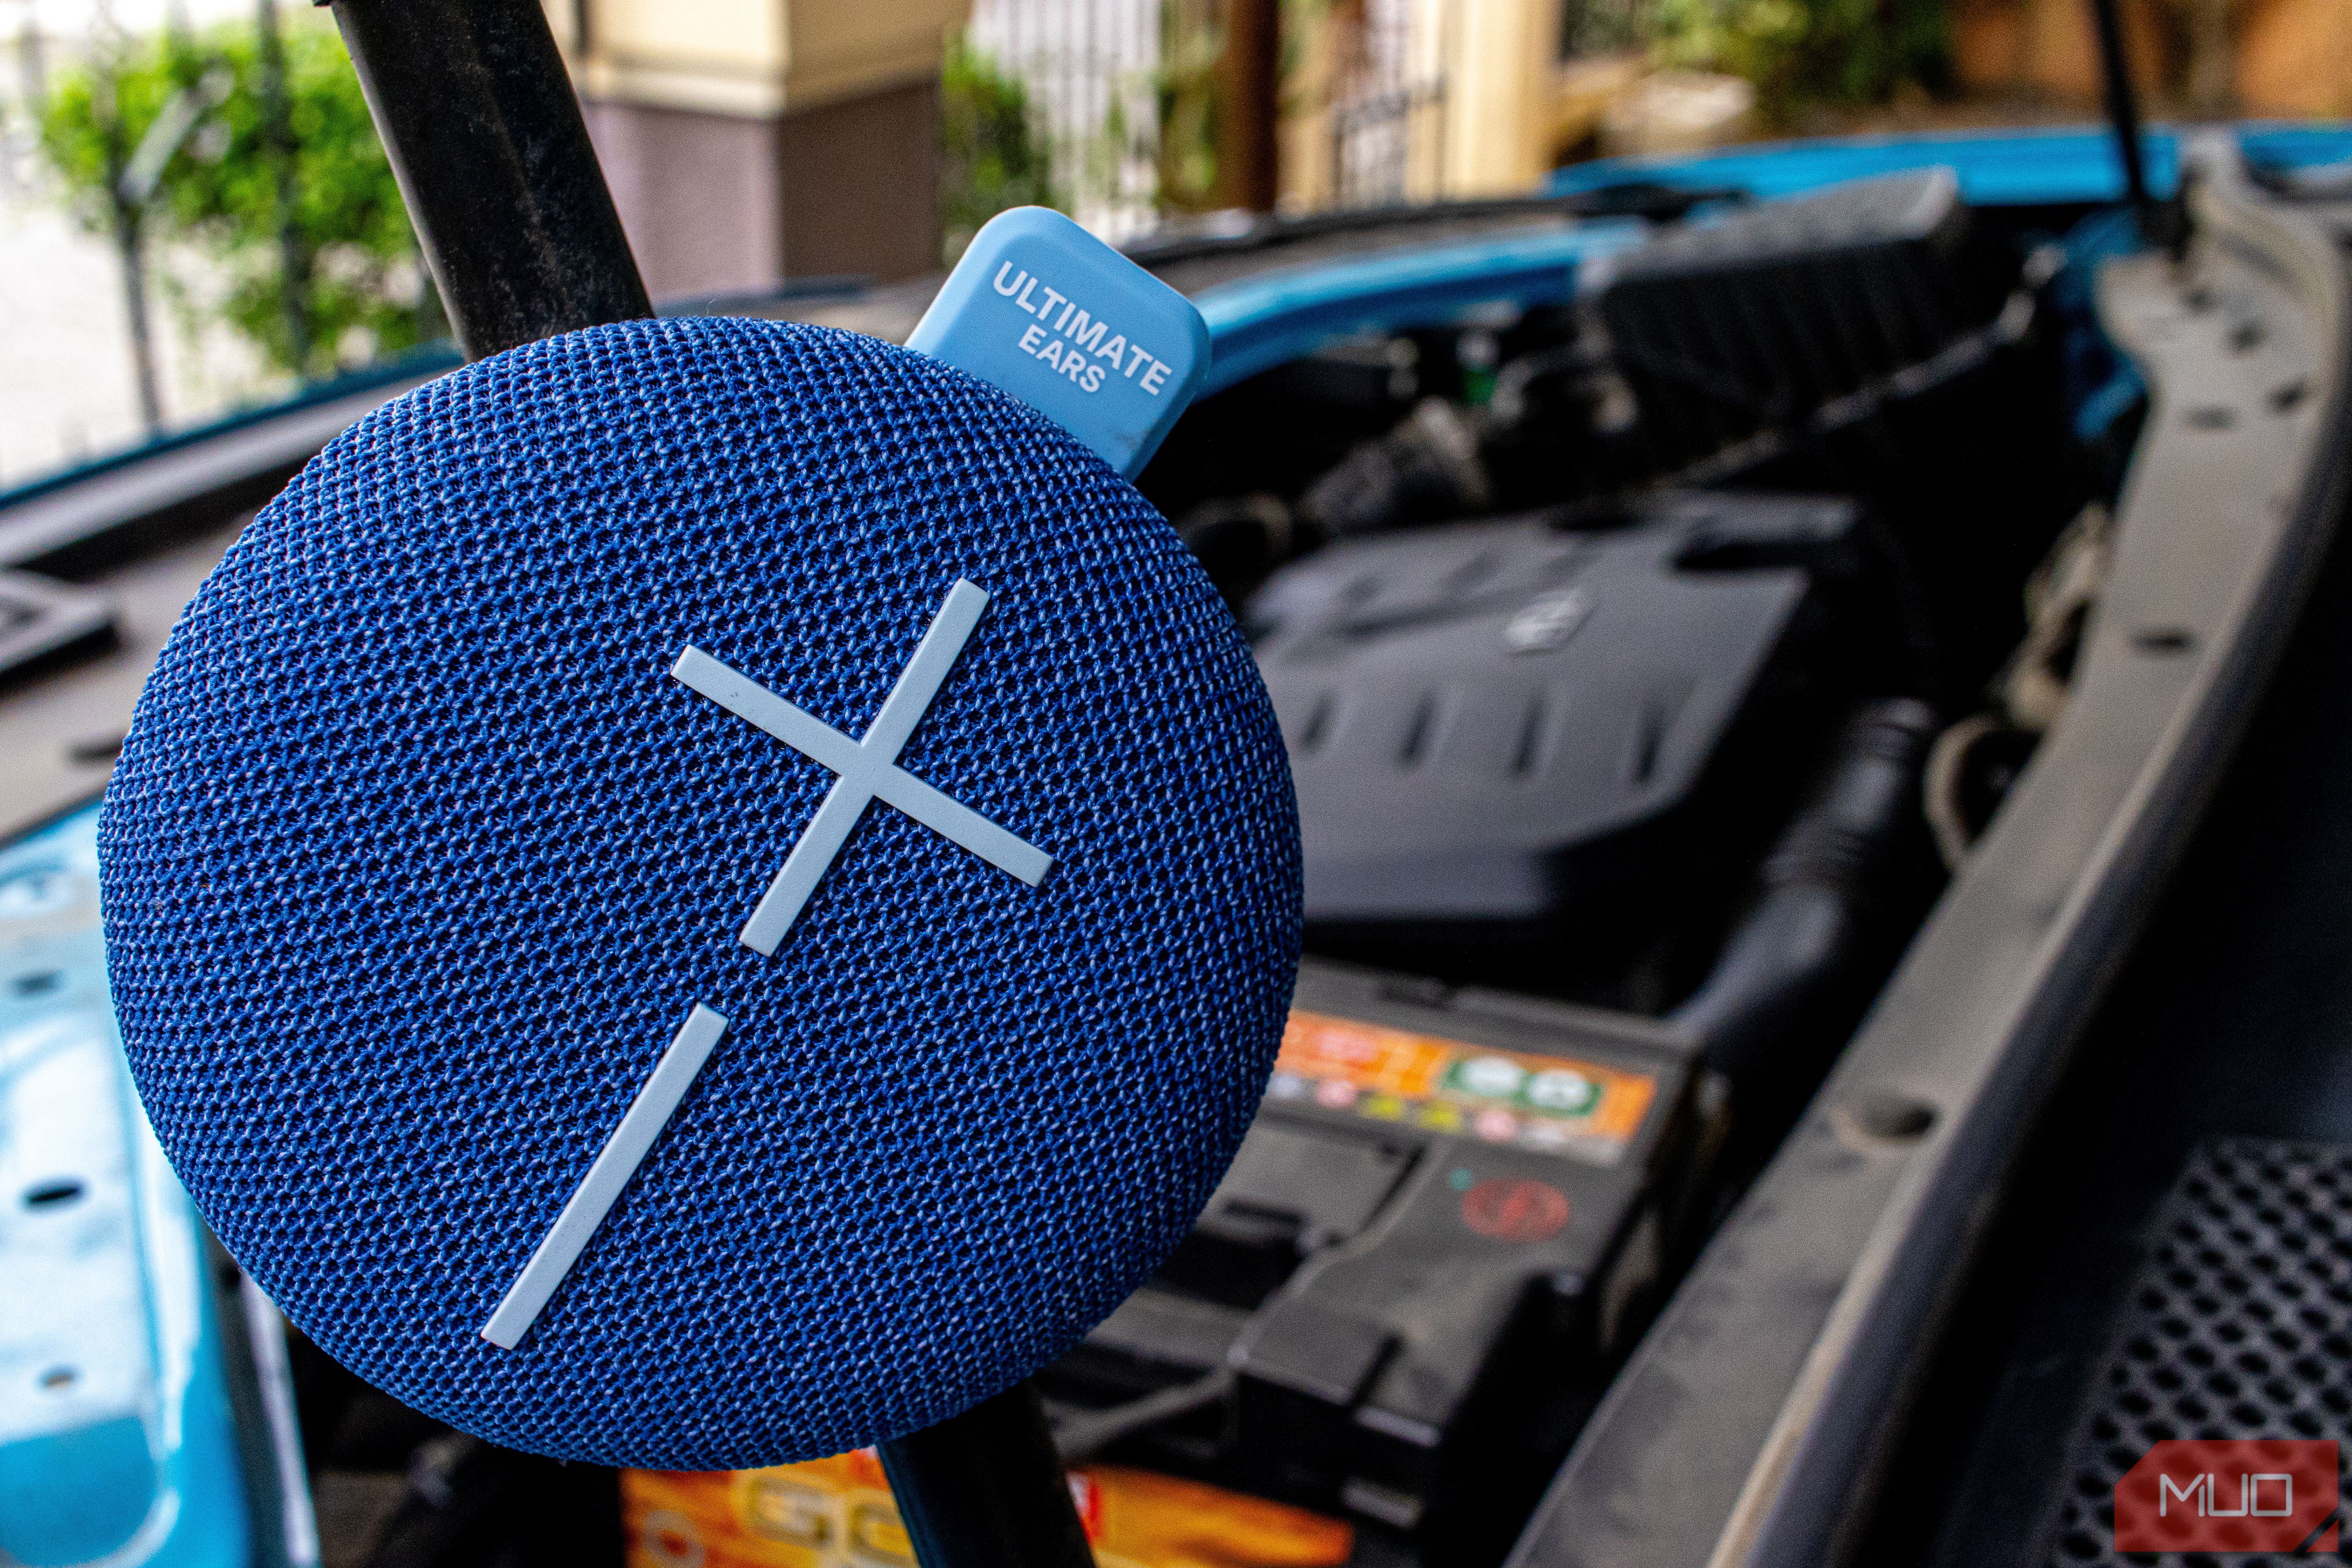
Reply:
<svg viewBox="0 0 2352 1568"><path fill-rule="evenodd" d="M435 336L442 320L334 26L313 19L310 7L287 7L282 33L292 226L308 270L301 313L310 341L299 364L254 26L125 38L61 71L40 146L75 216L94 233L113 233L125 162L176 94L195 94L205 110L162 167L139 223L151 247L186 247L212 261L207 273L221 287L200 296L169 270L165 287L191 324L226 320L273 367L322 376Z"/></svg>

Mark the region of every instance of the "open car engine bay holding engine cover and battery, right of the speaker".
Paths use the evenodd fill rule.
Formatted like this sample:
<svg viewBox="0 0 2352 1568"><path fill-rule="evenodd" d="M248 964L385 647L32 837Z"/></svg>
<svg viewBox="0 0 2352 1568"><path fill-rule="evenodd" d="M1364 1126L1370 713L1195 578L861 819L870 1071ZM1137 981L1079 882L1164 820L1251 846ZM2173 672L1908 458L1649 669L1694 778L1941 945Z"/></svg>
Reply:
<svg viewBox="0 0 2352 1568"><path fill-rule="evenodd" d="M1065 1453L1501 1561L1933 903L1931 816L1964 856L2027 759L2002 693L2063 703L2086 595L2034 583L2140 414L2082 364L2100 242L1858 181L1178 428L1143 489L1272 691L1315 961L1195 1239L1042 1375ZM1606 1088L1552 1119L1543 1058ZM1505 1190L1573 1220L1498 1237Z"/></svg>

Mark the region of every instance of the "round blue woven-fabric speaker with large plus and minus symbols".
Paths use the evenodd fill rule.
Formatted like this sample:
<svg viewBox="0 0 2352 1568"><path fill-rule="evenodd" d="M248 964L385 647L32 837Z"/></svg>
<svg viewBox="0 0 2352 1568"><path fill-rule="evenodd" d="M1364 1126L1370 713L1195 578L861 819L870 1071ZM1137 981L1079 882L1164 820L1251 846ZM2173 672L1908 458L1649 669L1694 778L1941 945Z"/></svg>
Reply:
<svg viewBox="0 0 2352 1568"><path fill-rule="evenodd" d="M1068 1349L1298 957L1275 717L1167 522L957 369L748 320L343 433L174 628L99 853L139 1093L292 1321L666 1469Z"/></svg>

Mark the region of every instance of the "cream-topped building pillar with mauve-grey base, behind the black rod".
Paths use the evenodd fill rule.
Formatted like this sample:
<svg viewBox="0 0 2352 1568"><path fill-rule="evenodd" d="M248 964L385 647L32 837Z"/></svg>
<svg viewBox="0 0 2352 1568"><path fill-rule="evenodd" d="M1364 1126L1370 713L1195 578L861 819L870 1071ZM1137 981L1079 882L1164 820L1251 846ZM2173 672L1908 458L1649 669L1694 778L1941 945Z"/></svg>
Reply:
<svg viewBox="0 0 2352 1568"><path fill-rule="evenodd" d="M656 299L938 266L969 0L546 0Z"/></svg>

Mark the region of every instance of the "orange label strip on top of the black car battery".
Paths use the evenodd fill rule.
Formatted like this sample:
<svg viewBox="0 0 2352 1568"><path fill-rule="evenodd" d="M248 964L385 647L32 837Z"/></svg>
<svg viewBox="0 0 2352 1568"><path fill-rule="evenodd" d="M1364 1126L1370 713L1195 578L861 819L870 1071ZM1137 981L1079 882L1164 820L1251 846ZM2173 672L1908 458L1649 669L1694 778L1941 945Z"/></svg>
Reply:
<svg viewBox="0 0 2352 1568"><path fill-rule="evenodd" d="M1272 1100L1595 1164L1625 1152L1656 1095L1642 1072L1305 1011L1291 1013L1268 1084Z"/></svg>

